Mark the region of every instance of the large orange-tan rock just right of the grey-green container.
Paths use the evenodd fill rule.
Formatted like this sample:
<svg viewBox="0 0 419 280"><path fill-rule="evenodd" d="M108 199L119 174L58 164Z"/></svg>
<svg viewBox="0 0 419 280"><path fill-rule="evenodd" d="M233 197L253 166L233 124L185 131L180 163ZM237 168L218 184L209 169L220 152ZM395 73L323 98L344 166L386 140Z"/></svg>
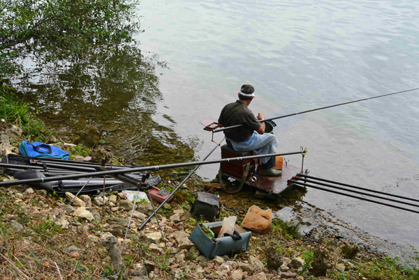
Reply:
<svg viewBox="0 0 419 280"><path fill-rule="evenodd" d="M267 233L272 226L272 210L262 210L252 205L242 221L242 226L255 233Z"/></svg>

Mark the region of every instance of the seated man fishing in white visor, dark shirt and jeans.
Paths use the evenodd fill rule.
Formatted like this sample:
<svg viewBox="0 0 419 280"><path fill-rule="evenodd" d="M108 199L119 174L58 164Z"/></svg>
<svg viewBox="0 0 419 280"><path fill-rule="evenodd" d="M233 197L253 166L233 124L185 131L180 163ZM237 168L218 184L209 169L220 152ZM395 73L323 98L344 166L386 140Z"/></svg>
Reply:
<svg viewBox="0 0 419 280"><path fill-rule="evenodd" d="M260 120L265 115L259 113L257 118L248 108L251 100L255 98L255 89L250 84L244 84L238 93L239 100L227 104L222 110L218 123L223 127L232 125L244 125L242 127L224 130L226 139L230 141L234 150L239 152L253 151L256 155L266 155L275 153L279 145L277 137L274 134L265 133L265 123ZM227 141L227 142L228 142ZM281 176L282 171L275 170L275 157L263 157L262 176Z"/></svg>

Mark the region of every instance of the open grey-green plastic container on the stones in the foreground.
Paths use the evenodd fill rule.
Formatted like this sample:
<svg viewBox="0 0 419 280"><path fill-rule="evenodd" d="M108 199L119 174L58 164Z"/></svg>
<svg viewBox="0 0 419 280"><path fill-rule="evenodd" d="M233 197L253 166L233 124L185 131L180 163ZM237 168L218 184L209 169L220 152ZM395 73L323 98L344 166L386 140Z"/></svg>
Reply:
<svg viewBox="0 0 419 280"><path fill-rule="evenodd" d="M223 226L222 221L214 221L212 223L198 224L196 228L192 231L189 236L189 240L198 248L198 250L206 258L214 258L215 256L224 256L240 251L247 251L249 245L249 240L251 232L247 231L245 233L240 233L242 236L241 240L233 240L230 236L223 238L215 238L214 240L210 239L203 233L200 226L207 225L210 226L212 231L218 234L221 226Z"/></svg>

